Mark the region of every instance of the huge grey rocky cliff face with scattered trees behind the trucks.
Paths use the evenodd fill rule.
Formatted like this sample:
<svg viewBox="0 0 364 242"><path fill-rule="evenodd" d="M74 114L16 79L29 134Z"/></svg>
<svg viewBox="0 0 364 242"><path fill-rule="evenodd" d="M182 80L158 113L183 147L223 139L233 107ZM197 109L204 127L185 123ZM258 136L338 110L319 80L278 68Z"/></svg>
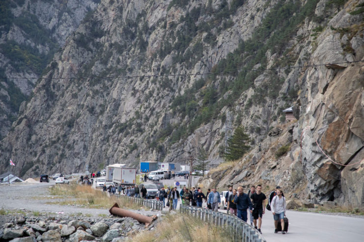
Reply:
<svg viewBox="0 0 364 242"><path fill-rule="evenodd" d="M363 162L333 162L364 158L363 63L311 66L363 60L363 14L350 14L359 4L103 0L21 106L1 169L10 157L21 176L184 164L198 148L215 167L243 125L252 152L202 184L280 184L310 202L363 206L349 188ZM292 105L298 121L282 124Z"/></svg>

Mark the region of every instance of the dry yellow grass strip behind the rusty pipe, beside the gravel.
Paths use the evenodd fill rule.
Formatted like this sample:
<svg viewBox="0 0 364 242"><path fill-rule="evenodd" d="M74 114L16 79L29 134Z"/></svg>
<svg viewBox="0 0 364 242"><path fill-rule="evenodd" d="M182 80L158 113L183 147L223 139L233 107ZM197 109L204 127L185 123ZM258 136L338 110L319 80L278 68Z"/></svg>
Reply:
<svg viewBox="0 0 364 242"><path fill-rule="evenodd" d="M129 209L139 209L140 205L133 203L129 199L117 199L114 196L108 196L101 190L93 189L90 186L78 185L71 183L68 186L56 185L50 188L52 195L62 198L60 201L48 202L48 204L58 205L76 205L87 208L109 209L117 202L119 207Z"/></svg>

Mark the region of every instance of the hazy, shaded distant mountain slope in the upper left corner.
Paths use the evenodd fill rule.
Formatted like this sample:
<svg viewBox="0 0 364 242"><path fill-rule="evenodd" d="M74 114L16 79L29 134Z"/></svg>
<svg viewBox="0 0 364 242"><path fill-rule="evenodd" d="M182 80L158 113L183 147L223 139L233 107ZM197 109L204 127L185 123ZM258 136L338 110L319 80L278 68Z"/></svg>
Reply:
<svg viewBox="0 0 364 242"><path fill-rule="evenodd" d="M98 0L0 2L0 139L59 46ZM25 77L25 78L19 78Z"/></svg>

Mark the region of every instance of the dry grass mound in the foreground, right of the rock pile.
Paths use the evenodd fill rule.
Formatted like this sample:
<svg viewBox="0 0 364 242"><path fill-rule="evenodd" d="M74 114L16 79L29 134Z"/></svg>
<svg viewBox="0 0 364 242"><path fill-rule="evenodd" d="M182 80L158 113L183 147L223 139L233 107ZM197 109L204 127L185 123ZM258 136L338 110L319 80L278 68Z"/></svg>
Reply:
<svg viewBox="0 0 364 242"><path fill-rule="evenodd" d="M229 242L232 241L225 229L190 217L186 214L174 214L163 217L156 229L144 230L128 242Z"/></svg>

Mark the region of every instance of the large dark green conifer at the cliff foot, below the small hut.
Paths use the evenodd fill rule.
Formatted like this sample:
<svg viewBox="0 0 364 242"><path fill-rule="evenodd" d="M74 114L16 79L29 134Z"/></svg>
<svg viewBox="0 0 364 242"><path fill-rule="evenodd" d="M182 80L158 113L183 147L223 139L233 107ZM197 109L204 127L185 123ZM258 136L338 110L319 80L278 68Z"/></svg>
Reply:
<svg viewBox="0 0 364 242"><path fill-rule="evenodd" d="M227 140L227 147L224 154L225 160L237 160L249 151L249 136L244 133L244 128L239 126L235 129L234 134Z"/></svg>

